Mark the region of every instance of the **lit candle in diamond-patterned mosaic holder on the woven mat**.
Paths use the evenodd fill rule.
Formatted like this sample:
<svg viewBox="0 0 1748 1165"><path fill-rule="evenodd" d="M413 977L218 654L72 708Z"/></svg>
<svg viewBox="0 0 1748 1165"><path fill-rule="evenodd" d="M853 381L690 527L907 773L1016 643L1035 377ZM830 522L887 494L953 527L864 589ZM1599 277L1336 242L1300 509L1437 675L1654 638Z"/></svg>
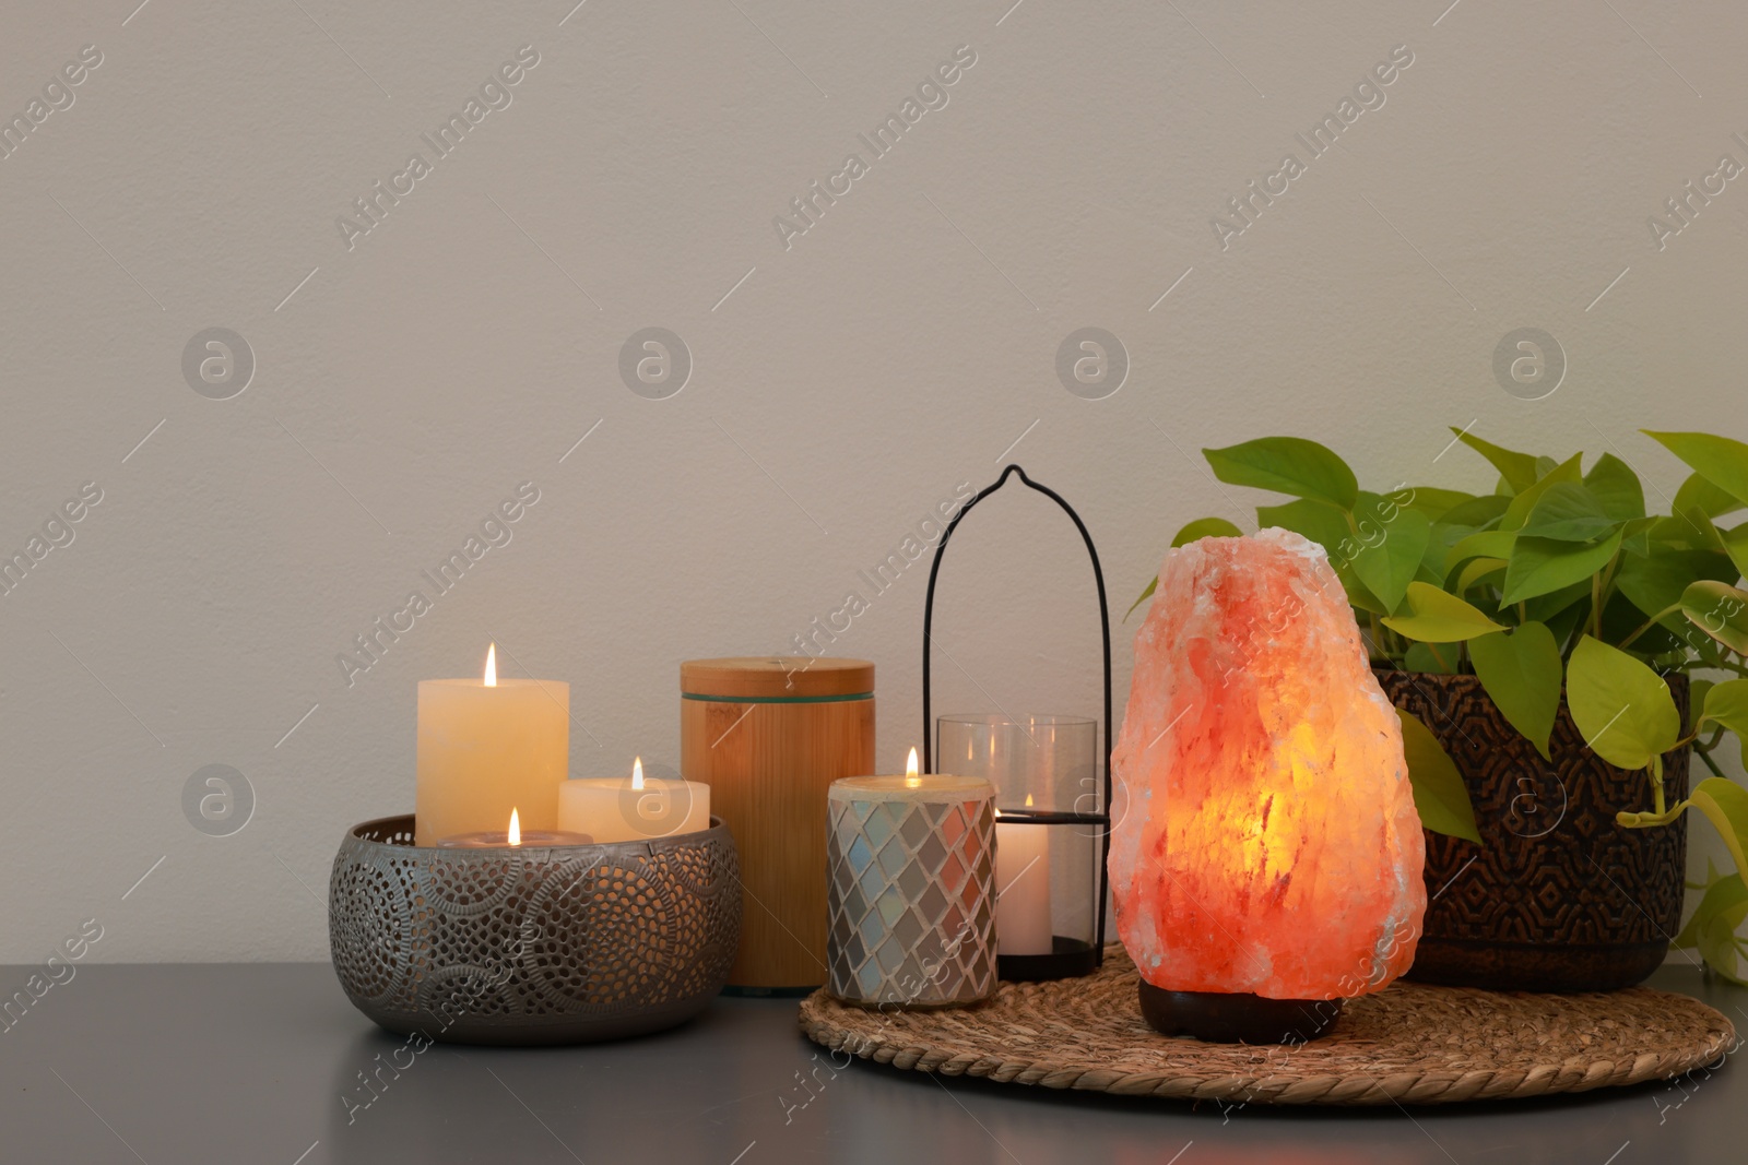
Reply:
<svg viewBox="0 0 1748 1165"><path fill-rule="evenodd" d="M900 1008L988 999L995 962L995 786L844 777L827 795L827 989Z"/></svg>

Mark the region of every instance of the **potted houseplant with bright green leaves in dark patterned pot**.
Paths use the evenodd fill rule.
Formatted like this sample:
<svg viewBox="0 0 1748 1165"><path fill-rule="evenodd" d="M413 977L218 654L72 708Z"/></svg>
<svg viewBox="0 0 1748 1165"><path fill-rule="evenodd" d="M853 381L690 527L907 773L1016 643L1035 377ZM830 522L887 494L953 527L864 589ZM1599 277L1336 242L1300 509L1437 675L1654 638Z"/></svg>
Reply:
<svg viewBox="0 0 1748 1165"><path fill-rule="evenodd" d="M1647 512L1612 452L1585 468L1582 454L1556 461L1468 431L1458 440L1498 472L1491 493L1363 491L1337 454L1297 437L1203 451L1222 482L1292 496L1259 507L1259 524L1323 545L1398 706L1430 831L1430 978L1619 987L1673 938L1743 982L1748 789L1711 755L1727 734L1748 741L1748 590L1736 585L1748 522L1718 524L1748 508L1748 445L1647 435L1692 470L1668 514ZM1199 519L1173 545L1238 533ZM1689 755L1711 770L1692 795ZM1687 809L1718 830L1736 872L1704 884L1671 934Z"/></svg>

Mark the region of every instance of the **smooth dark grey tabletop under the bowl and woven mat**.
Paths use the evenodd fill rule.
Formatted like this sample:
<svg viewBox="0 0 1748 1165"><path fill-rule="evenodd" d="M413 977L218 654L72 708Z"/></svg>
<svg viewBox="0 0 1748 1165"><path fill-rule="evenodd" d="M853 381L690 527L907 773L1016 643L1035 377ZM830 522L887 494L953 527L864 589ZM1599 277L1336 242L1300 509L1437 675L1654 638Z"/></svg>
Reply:
<svg viewBox="0 0 1748 1165"><path fill-rule="evenodd" d="M31 973L0 968L0 985ZM1748 1031L1745 989L1676 966L1652 985ZM413 1050L353 1011L325 964L80 966L9 1022L7 1165L1748 1160L1736 1064L1545 1100L1224 1111L860 1060L832 1069L799 1034L792 999L718 999L680 1029L612 1044ZM407 1067L378 1072L393 1062ZM360 1074L385 1083L367 1092Z"/></svg>

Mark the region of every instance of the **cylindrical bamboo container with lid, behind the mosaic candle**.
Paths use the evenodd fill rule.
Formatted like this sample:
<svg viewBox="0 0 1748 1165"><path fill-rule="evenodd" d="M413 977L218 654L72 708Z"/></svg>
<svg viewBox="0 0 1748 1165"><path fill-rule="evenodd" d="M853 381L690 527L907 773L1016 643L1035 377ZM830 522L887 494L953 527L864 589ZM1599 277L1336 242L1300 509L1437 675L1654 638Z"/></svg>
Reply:
<svg viewBox="0 0 1748 1165"><path fill-rule="evenodd" d="M741 950L729 987L825 982L825 802L874 772L874 664L745 657L680 664L680 767L741 859Z"/></svg>

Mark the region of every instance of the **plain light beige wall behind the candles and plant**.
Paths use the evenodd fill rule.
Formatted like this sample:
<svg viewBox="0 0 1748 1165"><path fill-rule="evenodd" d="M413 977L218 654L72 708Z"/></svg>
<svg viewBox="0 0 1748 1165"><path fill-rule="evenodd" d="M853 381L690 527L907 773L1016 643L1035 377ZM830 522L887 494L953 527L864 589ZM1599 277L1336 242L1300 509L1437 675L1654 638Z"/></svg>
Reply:
<svg viewBox="0 0 1748 1165"><path fill-rule="evenodd" d="M575 772L673 765L680 658L783 650L1003 458L1080 508L1119 611L1178 524L1259 500L1203 445L1292 431L1369 482L1479 486L1440 458L1472 424L1673 493L1638 426L1748 435L1748 187L1662 250L1647 217L1748 162L1748 21L1446 2L10 0L0 112L82 45L101 65L0 161L0 548L101 501L0 597L0 961L87 917L96 959L322 957L341 831L411 809L416 679L498 638L572 683ZM421 134L523 45L437 159ZM858 134L960 45L876 159ZM1383 105L1311 157L1295 133L1391 51ZM348 246L413 152L430 173ZM851 152L785 246L774 217ZM184 376L213 327L255 362L227 400ZM647 327L690 353L664 400L619 372ZM1103 400L1058 377L1086 327L1127 353ZM1491 370L1523 327L1568 362L1543 400ZM348 685L337 653L524 480L512 541ZM940 709L1096 709L1072 531L1007 500L965 529ZM879 664L890 765L925 571L834 648ZM231 837L184 816L205 765L253 789Z"/></svg>

